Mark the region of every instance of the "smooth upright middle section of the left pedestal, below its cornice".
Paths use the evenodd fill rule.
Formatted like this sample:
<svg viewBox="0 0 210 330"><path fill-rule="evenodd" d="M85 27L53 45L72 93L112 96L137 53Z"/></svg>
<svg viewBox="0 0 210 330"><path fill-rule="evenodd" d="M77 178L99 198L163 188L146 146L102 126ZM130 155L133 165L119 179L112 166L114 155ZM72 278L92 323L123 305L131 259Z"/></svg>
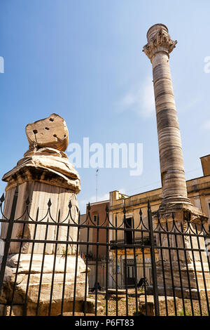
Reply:
<svg viewBox="0 0 210 330"><path fill-rule="evenodd" d="M6 191L6 199L5 199L5 206L3 210L4 216L8 218L10 216L11 211L11 203L10 200L13 199L13 195L15 192L15 187L11 188L10 190ZM28 206L28 214L25 213L26 210L26 200L29 197L30 204ZM48 213L48 202L49 199L52 203L50 206L50 214ZM52 218L57 223L58 221L58 213L60 210L60 222L64 220L69 213L69 202L71 201L71 216L75 223L78 223L78 203L77 203L77 197L74 192L71 192L71 190L66 190L62 187L57 187L53 185L47 185L45 183L38 183L36 181L31 182L25 182L22 183L22 185L19 186L19 194L18 194L18 202L17 207L15 211L15 219L19 220L30 220L32 218L34 221L36 220L36 213L38 209L38 221L43 219L47 213L48 216L43 221L49 221L52 223ZM22 216L22 214L24 215ZM52 217L52 218L51 218ZM66 221L64 223L68 223L70 220L70 224L73 223L73 221L70 218L70 215L68 218L66 218ZM1 238L6 237L8 224L2 223L1 224ZM13 233L12 233L12 239L19 238L22 236L22 228L23 223L15 223L13 225ZM34 238L34 230L35 230L35 223L31 221L31 223L25 225L25 231L23 234L23 237L25 239L33 239ZM36 227L36 236L35 239L45 239L45 230L46 225L42 225L41 223L38 223ZM48 226L48 239L55 239L57 232L57 226L50 225ZM69 236L67 237L67 227L66 226L59 226L59 240L64 241L74 241L77 240L77 228L76 227L70 227L69 228ZM20 243L18 242L12 242L10 243L10 250L9 253L19 253L19 247ZM29 244L27 242L24 242L22 244L22 253L29 253L31 252L32 244ZM66 249L66 246L64 244L58 244L57 246L57 253L62 253L62 251ZM76 246L72 245L69 246L68 253L73 254L75 253ZM45 253L54 253L55 251L55 245L53 244L47 244ZM43 253L43 244L36 243L34 245L34 253Z"/></svg>

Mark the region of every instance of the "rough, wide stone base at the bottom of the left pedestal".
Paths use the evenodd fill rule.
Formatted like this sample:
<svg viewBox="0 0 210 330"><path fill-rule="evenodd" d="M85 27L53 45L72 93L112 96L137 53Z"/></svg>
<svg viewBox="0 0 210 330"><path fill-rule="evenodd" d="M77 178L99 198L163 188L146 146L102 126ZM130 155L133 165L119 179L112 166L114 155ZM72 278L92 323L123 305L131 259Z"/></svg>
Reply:
<svg viewBox="0 0 210 330"><path fill-rule="evenodd" d="M35 254L31 265L31 275L29 277L29 290L27 294L27 315L36 315L36 303L38 301L38 290L41 279L41 263L43 256ZM39 315L48 315L50 301L50 290L52 284L52 270L55 256L45 255L43 277L41 284L41 296L39 301ZM28 270L31 254L22 254L18 268L18 277L15 284L14 305L19 305L19 310L15 315L22 315L23 305L25 303L25 292L28 281ZM64 280L64 256L57 256L55 263L55 275L52 293L52 312L51 315L59 315L62 303L62 289ZM1 265L1 259L0 259ZM15 273L18 265L18 254L10 254L6 265L6 272L3 284L3 292L0 299L2 306L8 305L13 295L13 285ZM64 294L64 312L70 312L73 305L73 289L75 278L76 256L68 256L66 263L66 279ZM88 285L87 285L88 292ZM85 298L85 264L81 258L78 258L78 269L76 274L76 302L83 303ZM82 308L83 304L80 304ZM17 309L17 308L16 308ZM77 308L78 309L78 308ZM1 312L1 310L0 310ZM3 313L2 308L2 313ZM0 313L1 315L1 313Z"/></svg>

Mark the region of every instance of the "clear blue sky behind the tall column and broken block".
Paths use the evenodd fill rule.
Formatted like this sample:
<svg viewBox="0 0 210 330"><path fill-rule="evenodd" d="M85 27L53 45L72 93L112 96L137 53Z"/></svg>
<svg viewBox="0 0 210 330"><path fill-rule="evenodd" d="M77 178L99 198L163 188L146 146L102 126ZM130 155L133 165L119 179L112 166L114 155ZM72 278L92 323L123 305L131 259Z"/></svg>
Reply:
<svg viewBox="0 0 210 330"><path fill-rule="evenodd" d="M70 142L143 143L144 170L99 169L98 199L160 187L151 62L146 32L162 22L178 44L170 57L186 178L209 154L208 0L1 0L0 175L28 149L25 126L60 114ZM78 169L80 209L95 200L95 169ZM0 183L3 192L5 183Z"/></svg>

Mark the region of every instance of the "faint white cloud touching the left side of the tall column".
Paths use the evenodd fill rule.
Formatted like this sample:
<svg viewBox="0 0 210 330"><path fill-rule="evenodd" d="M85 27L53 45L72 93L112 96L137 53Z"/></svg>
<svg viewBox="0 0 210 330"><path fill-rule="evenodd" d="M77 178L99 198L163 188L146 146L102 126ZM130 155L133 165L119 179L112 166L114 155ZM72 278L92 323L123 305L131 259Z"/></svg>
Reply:
<svg viewBox="0 0 210 330"><path fill-rule="evenodd" d="M133 111L139 116L149 118L155 114L155 98L151 77L139 86L132 88L118 103L118 112Z"/></svg>

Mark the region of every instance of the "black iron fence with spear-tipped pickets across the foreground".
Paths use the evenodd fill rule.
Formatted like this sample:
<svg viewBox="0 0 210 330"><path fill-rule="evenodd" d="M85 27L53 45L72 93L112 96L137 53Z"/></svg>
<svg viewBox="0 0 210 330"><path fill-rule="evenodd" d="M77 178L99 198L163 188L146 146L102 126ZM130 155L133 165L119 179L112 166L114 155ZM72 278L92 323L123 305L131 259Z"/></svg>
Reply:
<svg viewBox="0 0 210 330"><path fill-rule="evenodd" d="M146 221L139 210L139 218L128 223L125 208L123 220L118 214L110 220L106 207L104 223L99 217L95 222L89 204L82 222L71 201L66 216L59 210L54 218L49 200L45 216L37 209L33 219L29 199L15 218L18 187L8 217L3 201L1 315L210 315L210 236L202 218L153 217L148 202Z"/></svg>

